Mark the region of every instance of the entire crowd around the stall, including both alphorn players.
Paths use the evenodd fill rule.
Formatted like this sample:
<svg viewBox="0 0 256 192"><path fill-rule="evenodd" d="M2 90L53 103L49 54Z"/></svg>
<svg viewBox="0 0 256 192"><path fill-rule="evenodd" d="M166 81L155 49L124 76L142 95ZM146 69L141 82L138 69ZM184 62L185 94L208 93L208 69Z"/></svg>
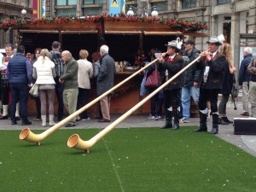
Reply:
<svg viewBox="0 0 256 192"><path fill-rule="evenodd" d="M195 41L192 39L186 40L183 45L173 40L166 44L166 53L160 53L159 49L150 51L150 60L154 61L154 65L148 67L145 74L148 77L157 71L160 73L160 84L172 79L183 67L195 61L193 66L152 97L149 119L160 119L162 105L164 106L165 125L161 129L177 130L180 123L189 123L191 98L198 106L200 116L199 128L195 132L208 131L209 113L212 113L212 130L209 131L212 134L218 133L219 124L232 123L226 113L236 73L231 46L217 37L210 38L207 44L207 50L200 51L195 48ZM11 125L16 125L20 119L21 125L32 124L27 118L28 90L32 84L38 84L39 93L38 97L34 97L37 108L34 120L42 121L44 127L47 122L49 126L55 125L55 96L58 101L57 120L61 121L64 106L72 114L89 102L90 79L96 79L97 96L102 96L114 86L115 62L108 55L107 45L102 45L99 52L92 55L92 63L87 60L89 53L86 49L79 51L79 60L76 61L69 50L61 51L61 44L57 41L53 42L51 50L35 49L33 61L30 54L25 55L23 45L18 45L16 53L12 44L6 44L5 50L6 56L1 63L3 114L0 114L0 119L8 119L10 116ZM238 79L243 98L241 115L249 116L250 98L251 116L256 117L256 102L253 101L256 96L256 59L252 52L252 48L244 48ZM137 62L143 62L146 57L143 51L139 50L138 55ZM149 92L155 89L149 89ZM218 94L222 94L219 103ZM110 122L110 100L111 94L102 96L99 102L99 122ZM76 121L86 119L90 117L85 110L66 126L76 126Z"/></svg>

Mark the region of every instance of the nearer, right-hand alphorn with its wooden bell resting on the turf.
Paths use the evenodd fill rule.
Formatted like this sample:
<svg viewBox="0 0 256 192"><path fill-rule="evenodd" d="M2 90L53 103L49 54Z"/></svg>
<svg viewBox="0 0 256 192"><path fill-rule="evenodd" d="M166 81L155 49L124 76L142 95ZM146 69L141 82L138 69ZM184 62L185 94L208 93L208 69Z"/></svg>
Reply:
<svg viewBox="0 0 256 192"><path fill-rule="evenodd" d="M122 116L119 117L119 119L116 119L113 121L112 124L108 125L104 130L100 131L98 134L96 134L95 137L90 138L88 141L83 141L78 134L73 134L71 137L67 140L67 146L69 148L76 148L79 150L84 150L84 153L89 153L89 148L91 148L95 143L97 143L102 137L108 134L109 131L113 130L113 128L117 125L119 125L124 119L129 117L131 113L134 113L137 108L140 108L145 102L147 102L152 96L154 96L156 93L158 93L160 90L162 90L167 84L170 84L173 79L176 79L177 76L179 76L181 73L183 73L185 70L187 70L190 66L192 66L197 60L199 60L201 56L197 57L194 61L190 62L189 65L186 67L183 67L182 70L180 70L178 73L176 73L171 79L168 79L166 83L160 85L159 88L154 90L151 94L146 96L141 102L138 102L137 105L135 105L133 108L131 108L129 111L124 113Z"/></svg>

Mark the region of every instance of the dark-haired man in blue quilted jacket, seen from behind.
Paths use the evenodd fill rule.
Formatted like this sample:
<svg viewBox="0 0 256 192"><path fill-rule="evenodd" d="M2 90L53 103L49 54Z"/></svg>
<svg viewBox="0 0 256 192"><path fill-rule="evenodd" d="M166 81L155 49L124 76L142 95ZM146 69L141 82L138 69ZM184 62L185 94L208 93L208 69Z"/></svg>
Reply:
<svg viewBox="0 0 256 192"><path fill-rule="evenodd" d="M16 103L20 100L21 125L31 125L32 122L27 119L27 96L28 85L32 83L32 66L25 57L25 47L23 45L17 47L17 54L9 61L6 75L12 93L11 124L17 124L15 111Z"/></svg>

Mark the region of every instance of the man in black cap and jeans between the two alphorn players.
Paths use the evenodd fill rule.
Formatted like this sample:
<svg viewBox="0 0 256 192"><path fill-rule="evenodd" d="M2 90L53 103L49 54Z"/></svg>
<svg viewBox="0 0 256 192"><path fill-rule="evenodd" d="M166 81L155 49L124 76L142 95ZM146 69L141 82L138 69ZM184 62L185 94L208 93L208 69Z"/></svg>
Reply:
<svg viewBox="0 0 256 192"><path fill-rule="evenodd" d="M189 57L189 61L185 61L185 64L189 64L194 61L200 54L200 50L195 48L195 42L188 39L184 43L185 49L183 56ZM183 118L179 120L180 123L189 123L190 117L190 96L196 105L198 105L199 100L199 86L201 84L203 75L202 69L197 69L195 65L189 67L182 76L182 107L183 107Z"/></svg>

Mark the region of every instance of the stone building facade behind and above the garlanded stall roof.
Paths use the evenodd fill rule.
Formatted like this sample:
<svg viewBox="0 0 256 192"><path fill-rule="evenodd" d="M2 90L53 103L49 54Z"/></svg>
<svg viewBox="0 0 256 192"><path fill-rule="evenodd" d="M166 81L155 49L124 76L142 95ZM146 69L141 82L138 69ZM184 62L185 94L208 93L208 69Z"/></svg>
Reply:
<svg viewBox="0 0 256 192"><path fill-rule="evenodd" d="M114 6L119 8L119 13L127 13L130 8L137 15L147 16L155 7L159 16L183 20L204 20L207 21L209 29L203 33L207 33L208 37L186 38L195 38L198 49L207 49L205 43L209 37L224 34L226 42L232 45L236 66L240 62L242 46L256 47L255 0L41 0L40 2L44 3L46 18L61 15L91 16L102 13L108 15L112 14L110 10ZM0 19L24 16L20 15L20 10L23 7L26 7L28 11L26 16L32 17L32 1L0 2ZM3 44L15 43L14 34L15 32L12 32L11 29L9 32L1 32L1 42Z"/></svg>

